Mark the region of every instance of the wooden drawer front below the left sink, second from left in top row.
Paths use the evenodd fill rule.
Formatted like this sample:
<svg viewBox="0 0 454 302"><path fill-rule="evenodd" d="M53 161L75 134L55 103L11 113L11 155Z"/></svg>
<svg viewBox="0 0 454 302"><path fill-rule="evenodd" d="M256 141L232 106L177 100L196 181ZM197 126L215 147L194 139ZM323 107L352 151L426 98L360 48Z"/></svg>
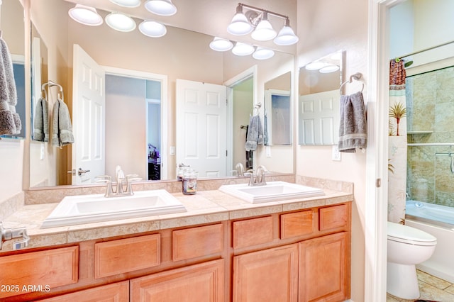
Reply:
<svg viewBox="0 0 454 302"><path fill-rule="evenodd" d="M160 264L160 234L94 245L94 277L101 278Z"/></svg>

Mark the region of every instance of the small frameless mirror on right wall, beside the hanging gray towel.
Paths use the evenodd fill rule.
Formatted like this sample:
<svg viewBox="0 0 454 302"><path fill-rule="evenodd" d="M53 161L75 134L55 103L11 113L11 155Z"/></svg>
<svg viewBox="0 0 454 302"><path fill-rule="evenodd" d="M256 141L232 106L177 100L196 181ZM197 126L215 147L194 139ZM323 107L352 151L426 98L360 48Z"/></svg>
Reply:
<svg viewBox="0 0 454 302"><path fill-rule="evenodd" d="M337 145L343 52L299 69L299 145Z"/></svg>

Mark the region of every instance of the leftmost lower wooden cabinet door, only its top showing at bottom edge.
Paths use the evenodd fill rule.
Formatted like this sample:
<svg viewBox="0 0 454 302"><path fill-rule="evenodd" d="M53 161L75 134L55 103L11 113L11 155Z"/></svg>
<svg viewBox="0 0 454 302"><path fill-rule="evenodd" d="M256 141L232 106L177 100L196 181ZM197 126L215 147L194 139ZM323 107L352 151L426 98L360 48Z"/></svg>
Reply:
<svg viewBox="0 0 454 302"><path fill-rule="evenodd" d="M40 301L67 302L67 301L129 301L129 281L84 289L75 293L48 298Z"/></svg>

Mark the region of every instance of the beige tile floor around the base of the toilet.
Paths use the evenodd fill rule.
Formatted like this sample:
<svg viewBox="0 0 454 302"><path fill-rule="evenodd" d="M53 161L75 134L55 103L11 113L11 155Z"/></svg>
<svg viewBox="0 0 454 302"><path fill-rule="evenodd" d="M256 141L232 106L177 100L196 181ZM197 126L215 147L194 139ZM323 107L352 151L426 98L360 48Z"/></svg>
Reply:
<svg viewBox="0 0 454 302"><path fill-rule="evenodd" d="M454 301L454 284L443 279L432 276L425 272L417 271L419 281L419 292L421 300L453 302ZM387 302L413 302L413 300L405 300L397 298L391 294L387 294Z"/></svg>

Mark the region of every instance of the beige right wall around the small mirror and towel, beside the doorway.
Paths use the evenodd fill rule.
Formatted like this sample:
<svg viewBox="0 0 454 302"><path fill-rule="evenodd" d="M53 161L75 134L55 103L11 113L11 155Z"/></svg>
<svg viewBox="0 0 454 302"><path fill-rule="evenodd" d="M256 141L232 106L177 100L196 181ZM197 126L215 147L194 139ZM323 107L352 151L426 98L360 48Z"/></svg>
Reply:
<svg viewBox="0 0 454 302"><path fill-rule="evenodd" d="M298 1L299 66L337 50L345 50L345 76L367 74L367 1ZM365 79L367 84L367 79ZM349 85L345 93L359 87ZM367 96L365 96L367 100ZM364 300L365 268L365 153L343 153L331 160L329 147L297 147L297 174L352 181L355 200L352 224L352 300Z"/></svg>

